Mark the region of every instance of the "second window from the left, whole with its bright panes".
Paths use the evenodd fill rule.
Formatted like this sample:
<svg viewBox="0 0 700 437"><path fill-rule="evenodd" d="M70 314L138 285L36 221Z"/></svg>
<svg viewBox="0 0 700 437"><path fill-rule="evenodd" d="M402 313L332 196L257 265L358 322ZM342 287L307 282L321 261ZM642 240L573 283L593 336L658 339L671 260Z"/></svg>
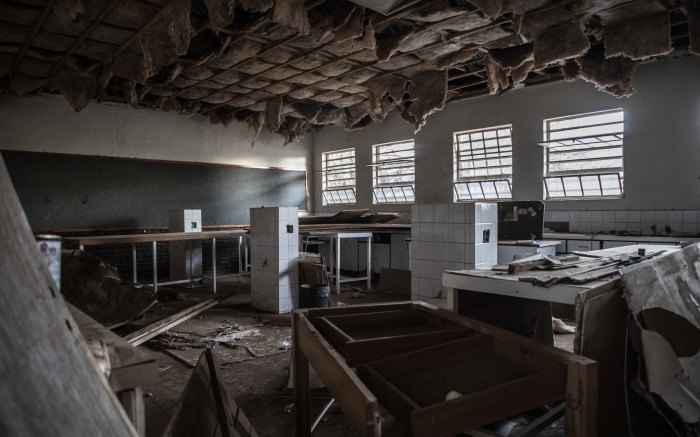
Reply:
<svg viewBox="0 0 700 437"><path fill-rule="evenodd" d="M372 154L374 203L416 200L416 149L413 140L374 146Z"/></svg>

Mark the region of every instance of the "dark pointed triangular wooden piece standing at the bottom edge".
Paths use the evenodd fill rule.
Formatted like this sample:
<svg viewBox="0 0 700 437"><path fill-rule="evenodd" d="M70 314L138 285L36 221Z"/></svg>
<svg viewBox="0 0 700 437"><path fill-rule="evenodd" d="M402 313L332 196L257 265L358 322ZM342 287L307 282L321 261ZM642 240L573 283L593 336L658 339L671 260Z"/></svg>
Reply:
<svg viewBox="0 0 700 437"><path fill-rule="evenodd" d="M258 437L248 417L224 387L212 349L199 357L165 437Z"/></svg>

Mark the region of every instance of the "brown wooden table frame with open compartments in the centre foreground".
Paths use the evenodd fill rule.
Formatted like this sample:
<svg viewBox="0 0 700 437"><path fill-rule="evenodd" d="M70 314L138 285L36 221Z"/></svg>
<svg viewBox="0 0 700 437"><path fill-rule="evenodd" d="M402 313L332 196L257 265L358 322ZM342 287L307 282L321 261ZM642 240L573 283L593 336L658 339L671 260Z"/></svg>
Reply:
<svg viewBox="0 0 700 437"><path fill-rule="evenodd" d="M595 361L432 305L297 310L293 336L299 437L310 434L309 364L360 435L381 435L380 403L432 437L563 400L567 435L596 433Z"/></svg>

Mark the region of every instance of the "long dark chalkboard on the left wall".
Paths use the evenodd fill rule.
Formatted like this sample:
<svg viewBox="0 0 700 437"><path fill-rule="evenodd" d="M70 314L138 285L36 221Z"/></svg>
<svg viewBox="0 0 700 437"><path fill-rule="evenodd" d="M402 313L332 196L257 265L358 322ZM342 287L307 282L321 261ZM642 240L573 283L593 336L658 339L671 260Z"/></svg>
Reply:
<svg viewBox="0 0 700 437"><path fill-rule="evenodd" d="M250 223L251 207L306 209L306 172L3 151L34 230L167 226L201 209L203 226Z"/></svg>

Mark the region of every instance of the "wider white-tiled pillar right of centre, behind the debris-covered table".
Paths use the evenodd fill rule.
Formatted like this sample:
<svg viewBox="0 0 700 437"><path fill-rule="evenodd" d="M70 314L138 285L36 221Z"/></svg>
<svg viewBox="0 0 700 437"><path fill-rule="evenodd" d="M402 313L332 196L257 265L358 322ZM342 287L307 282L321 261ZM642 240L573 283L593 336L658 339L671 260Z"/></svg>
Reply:
<svg viewBox="0 0 700 437"><path fill-rule="evenodd" d="M495 203L413 205L411 298L444 305L442 272L493 266L497 239Z"/></svg>

